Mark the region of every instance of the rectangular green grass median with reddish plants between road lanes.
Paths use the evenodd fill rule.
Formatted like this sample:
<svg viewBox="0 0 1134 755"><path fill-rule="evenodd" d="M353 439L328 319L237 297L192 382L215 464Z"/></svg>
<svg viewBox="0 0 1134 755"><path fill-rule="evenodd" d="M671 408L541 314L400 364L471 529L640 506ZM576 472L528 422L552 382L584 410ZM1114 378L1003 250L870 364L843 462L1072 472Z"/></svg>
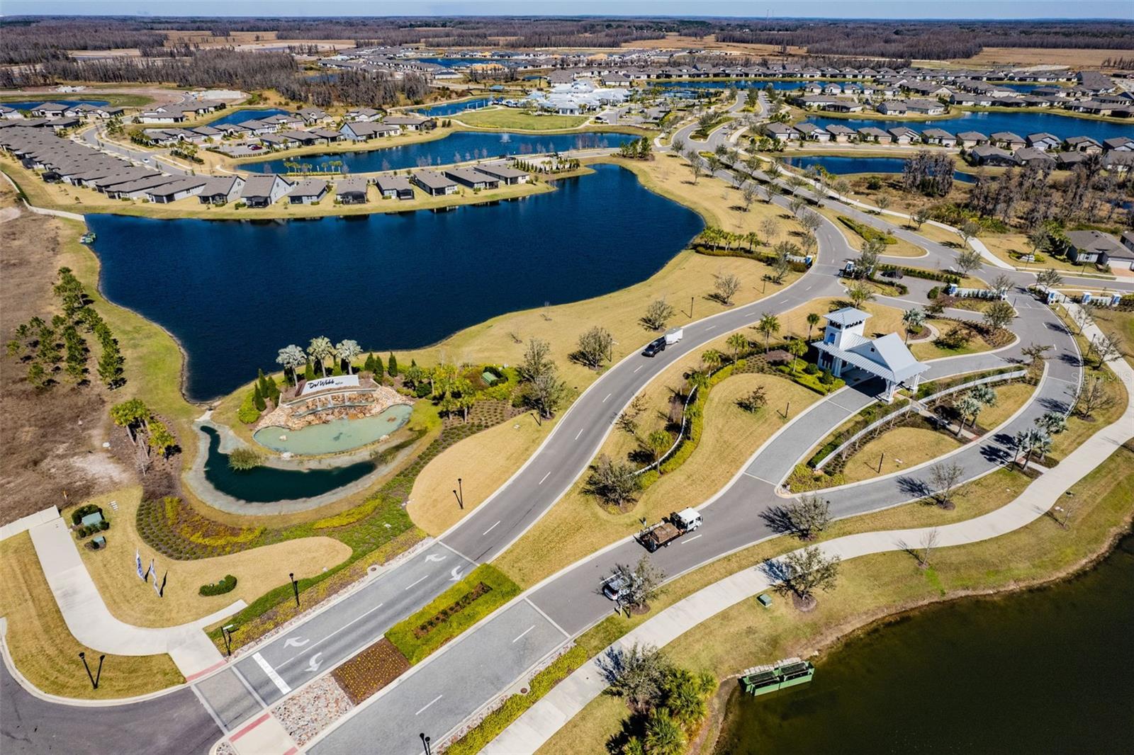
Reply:
<svg viewBox="0 0 1134 755"><path fill-rule="evenodd" d="M463 608L454 608L482 584L488 587L486 592ZM421 663L438 647L457 637L518 594L519 586L516 583L496 567L484 563L434 597L425 608L392 626L386 633L386 637L401 651L411 664ZM439 614L447 611L451 611L451 613L438 618ZM435 623L429 626L433 619L437 619Z"/></svg>

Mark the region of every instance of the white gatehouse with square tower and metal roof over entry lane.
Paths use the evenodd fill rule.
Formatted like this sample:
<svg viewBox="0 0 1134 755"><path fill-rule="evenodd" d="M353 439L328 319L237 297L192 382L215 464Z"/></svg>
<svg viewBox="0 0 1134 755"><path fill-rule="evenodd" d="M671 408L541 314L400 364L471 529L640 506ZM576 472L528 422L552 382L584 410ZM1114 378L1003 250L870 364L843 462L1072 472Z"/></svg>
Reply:
<svg viewBox="0 0 1134 755"><path fill-rule="evenodd" d="M813 341L812 346L819 351L819 366L830 370L836 378L849 376L855 368L868 376L881 378L886 383L882 399L889 402L899 387L916 391L930 365L915 359L897 333L866 338L863 326L870 316L854 307L829 313L822 340Z"/></svg>

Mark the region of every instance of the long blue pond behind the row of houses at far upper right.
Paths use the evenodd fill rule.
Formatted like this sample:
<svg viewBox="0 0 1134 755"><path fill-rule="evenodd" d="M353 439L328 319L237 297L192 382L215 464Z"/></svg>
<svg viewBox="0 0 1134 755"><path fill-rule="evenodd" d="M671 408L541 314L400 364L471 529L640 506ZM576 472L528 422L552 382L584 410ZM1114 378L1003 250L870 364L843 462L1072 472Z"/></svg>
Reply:
<svg viewBox="0 0 1134 755"><path fill-rule="evenodd" d="M1134 124L1110 124L1105 120L1089 120L1073 116L1060 116L1053 112L974 112L964 111L957 118L938 120L881 120L866 116L864 118L807 118L819 126L846 126L847 128L894 128L908 126L915 132L926 128L941 128L950 134L958 132L980 132L988 136L995 132L1012 132L1017 136L1027 136L1039 132L1055 134L1061 139L1073 136L1090 136L1102 142L1115 136L1134 136Z"/></svg>

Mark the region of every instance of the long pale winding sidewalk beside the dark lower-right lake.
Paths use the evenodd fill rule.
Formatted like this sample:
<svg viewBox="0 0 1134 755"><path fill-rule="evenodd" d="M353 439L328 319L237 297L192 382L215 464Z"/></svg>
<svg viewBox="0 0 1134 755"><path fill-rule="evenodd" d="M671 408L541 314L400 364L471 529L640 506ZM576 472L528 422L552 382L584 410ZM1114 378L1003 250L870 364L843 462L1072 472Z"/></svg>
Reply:
<svg viewBox="0 0 1134 755"><path fill-rule="evenodd" d="M1088 337L1094 337L1098 332L1094 324L1085 329ZM932 528L937 531L939 548L989 540L1034 521L1059 500L1064 491L1082 480L1123 443L1134 438L1134 368L1123 359L1109 364L1127 389L1126 412L1123 416L1089 438L1007 506L974 519ZM930 529L861 533L821 543L819 548L827 555L839 555L846 560L870 553L905 550L908 543L920 543ZM607 651L629 648L635 643L665 647L702 621L769 587L771 580L760 567L745 569L678 601L611 644ZM490 755L513 755L534 753L543 746L552 735L607 688L607 679L598 664L598 660L603 658L607 651L591 659L557 685L489 743L483 752Z"/></svg>

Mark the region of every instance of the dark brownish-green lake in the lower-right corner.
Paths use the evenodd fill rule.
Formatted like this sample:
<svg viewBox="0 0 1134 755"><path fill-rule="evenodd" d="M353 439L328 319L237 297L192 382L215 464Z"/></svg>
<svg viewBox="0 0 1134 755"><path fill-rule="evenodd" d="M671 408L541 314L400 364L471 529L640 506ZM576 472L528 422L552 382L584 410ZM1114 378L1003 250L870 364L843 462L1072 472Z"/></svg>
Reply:
<svg viewBox="0 0 1134 755"><path fill-rule="evenodd" d="M1073 579L880 626L809 685L734 693L716 753L1128 753L1131 626L1134 535Z"/></svg>

